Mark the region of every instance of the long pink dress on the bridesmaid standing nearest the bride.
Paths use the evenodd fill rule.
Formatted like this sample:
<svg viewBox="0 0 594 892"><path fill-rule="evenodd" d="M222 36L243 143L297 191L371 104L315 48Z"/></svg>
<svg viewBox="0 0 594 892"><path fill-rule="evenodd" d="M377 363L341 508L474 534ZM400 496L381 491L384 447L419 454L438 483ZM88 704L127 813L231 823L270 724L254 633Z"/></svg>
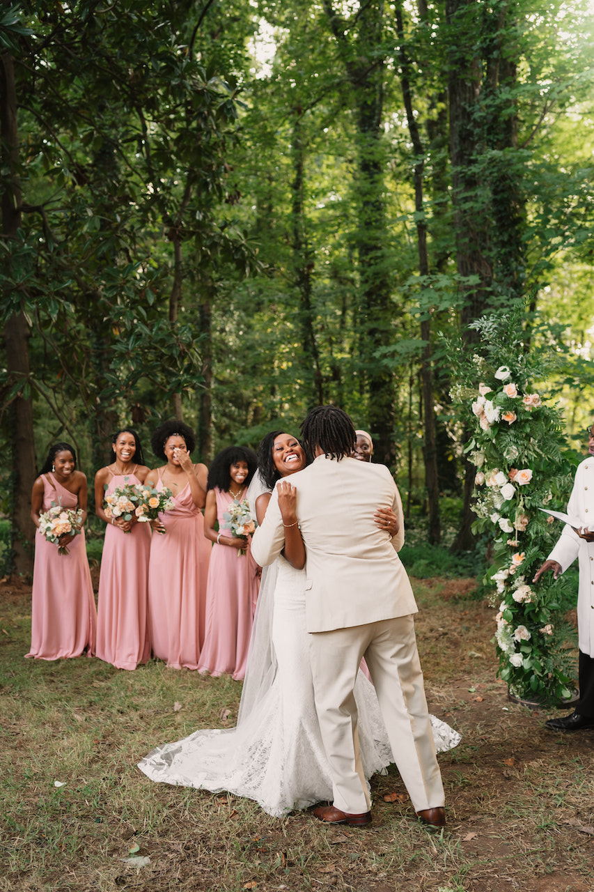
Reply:
<svg viewBox="0 0 594 892"><path fill-rule="evenodd" d="M228 527L223 515L233 499L218 487L215 495L219 530L224 532ZM237 549L215 542L206 586L206 634L200 658L201 673L228 673L235 681L243 681L259 587L258 566L249 546L238 555Z"/></svg>

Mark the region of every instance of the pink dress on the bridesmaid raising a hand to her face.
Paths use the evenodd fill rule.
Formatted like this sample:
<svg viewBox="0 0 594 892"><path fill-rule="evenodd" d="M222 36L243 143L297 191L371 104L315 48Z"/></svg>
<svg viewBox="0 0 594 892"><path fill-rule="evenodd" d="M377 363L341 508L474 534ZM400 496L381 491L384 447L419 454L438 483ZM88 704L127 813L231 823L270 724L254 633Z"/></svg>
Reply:
<svg viewBox="0 0 594 892"><path fill-rule="evenodd" d="M158 490L163 488L161 469ZM190 484L159 517L167 533L153 533L149 561L149 636L153 655L171 669L197 669L204 640L204 595L210 543Z"/></svg>

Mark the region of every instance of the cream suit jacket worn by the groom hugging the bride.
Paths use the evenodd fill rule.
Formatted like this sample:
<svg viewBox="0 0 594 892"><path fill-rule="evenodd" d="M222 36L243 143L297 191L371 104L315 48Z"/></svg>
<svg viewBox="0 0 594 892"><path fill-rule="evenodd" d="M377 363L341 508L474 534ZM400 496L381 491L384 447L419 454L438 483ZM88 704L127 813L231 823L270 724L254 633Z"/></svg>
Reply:
<svg viewBox="0 0 594 892"><path fill-rule="evenodd" d="M322 455L288 481L297 489L296 514L307 550L307 631L330 632L416 613L397 554L404 544L404 517L388 468ZM398 517L400 529L393 539L375 525L377 508L392 508ZM267 566L284 545L275 490L253 535L253 558Z"/></svg>

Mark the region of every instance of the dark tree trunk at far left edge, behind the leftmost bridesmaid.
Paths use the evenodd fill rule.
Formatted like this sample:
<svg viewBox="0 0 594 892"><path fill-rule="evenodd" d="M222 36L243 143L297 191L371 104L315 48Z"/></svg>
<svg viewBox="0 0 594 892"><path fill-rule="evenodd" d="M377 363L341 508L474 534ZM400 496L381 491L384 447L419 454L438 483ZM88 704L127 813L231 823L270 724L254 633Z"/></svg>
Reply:
<svg viewBox="0 0 594 892"><path fill-rule="evenodd" d="M0 159L10 171L9 185L2 194L2 237L14 239L21 226L21 184L19 163L19 128L17 97L14 83L14 60L10 54L0 56ZM8 303L12 294L4 293ZM22 310L15 312L4 326L6 368L12 382L22 381L22 388L9 409L9 430L12 466L12 570L30 574L33 569L34 524L30 518L31 490L35 480L35 441L33 438L33 406L29 390L29 325Z"/></svg>

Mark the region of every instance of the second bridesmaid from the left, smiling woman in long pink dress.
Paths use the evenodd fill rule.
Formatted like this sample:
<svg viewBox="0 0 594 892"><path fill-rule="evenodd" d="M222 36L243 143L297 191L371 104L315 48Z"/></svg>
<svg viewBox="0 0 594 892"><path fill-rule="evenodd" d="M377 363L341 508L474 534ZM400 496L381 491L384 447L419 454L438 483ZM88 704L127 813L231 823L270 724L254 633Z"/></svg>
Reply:
<svg viewBox="0 0 594 892"><path fill-rule="evenodd" d="M151 657L148 638L148 560L151 549L149 524L136 516L105 514L105 496L128 483L144 483L148 474L138 434L124 427L111 441L110 464L95 475L95 514L107 525L97 607L95 657L117 669L136 669Z"/></svg>

